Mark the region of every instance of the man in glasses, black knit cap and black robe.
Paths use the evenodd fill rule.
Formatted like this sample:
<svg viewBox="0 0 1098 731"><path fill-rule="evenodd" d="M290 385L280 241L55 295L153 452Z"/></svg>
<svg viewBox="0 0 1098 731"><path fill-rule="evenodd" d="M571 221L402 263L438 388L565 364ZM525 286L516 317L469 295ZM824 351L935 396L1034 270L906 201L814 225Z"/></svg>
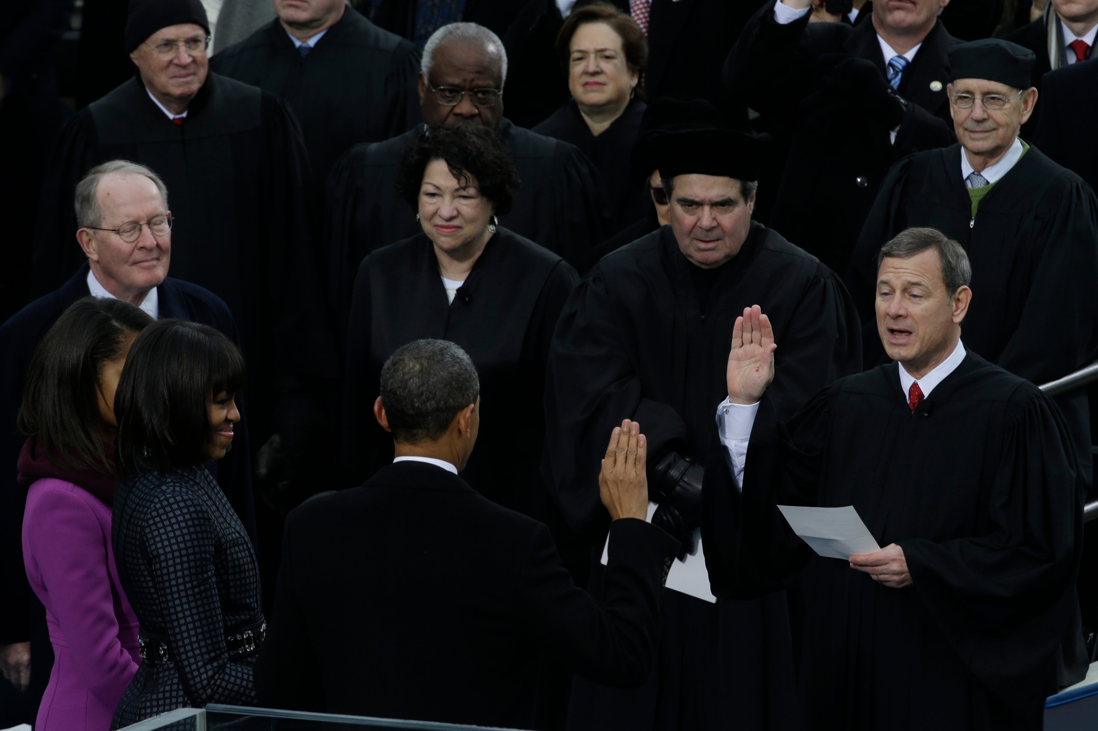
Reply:
<svg viewBox="0 0 1098 731"><path fill-rule="evenodd" d="M280 445L292 468L313 450L317 430L309 424L325 419L320 394L336 390L320 385L338 377L317 273L320 231L307 208L309 157L282 101L210 71L209 26L200 0L131 2L125 45L137 74L60 135L46 170L31 289L52 291L83 265L71 201L87 170L109 159L147 165L171 190L173 276L220 297L239 325L253 445Z"/></svg>

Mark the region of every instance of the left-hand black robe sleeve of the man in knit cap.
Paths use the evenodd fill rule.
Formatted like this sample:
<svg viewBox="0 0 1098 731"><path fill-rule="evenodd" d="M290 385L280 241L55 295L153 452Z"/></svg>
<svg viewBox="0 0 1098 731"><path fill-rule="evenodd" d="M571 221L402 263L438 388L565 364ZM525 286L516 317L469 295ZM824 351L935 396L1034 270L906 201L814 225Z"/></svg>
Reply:
<svg viewBox="0 0 1098 731"><path fill-rule="evenodd" d="M72 199L77 182L100 162L96 137L90 112L79 112L61 129L46 164L32 256L32 298L64 285L85 262L76 240Z"/></svg>

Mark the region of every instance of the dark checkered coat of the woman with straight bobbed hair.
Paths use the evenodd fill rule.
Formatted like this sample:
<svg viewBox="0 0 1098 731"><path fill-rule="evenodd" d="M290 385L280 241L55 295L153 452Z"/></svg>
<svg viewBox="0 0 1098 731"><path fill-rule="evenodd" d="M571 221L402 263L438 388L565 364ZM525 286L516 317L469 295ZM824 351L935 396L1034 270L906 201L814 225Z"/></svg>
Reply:
<svg viewBox="0 0 1098 731"><path fill-rule="evenodd" d="M147 473L114 498L114 558L141 635L172 661L142 663L112 729L184 706L251 705L257 651L229 657L225 635L257 628L259 567L244 525L204 468Z"/></svg>

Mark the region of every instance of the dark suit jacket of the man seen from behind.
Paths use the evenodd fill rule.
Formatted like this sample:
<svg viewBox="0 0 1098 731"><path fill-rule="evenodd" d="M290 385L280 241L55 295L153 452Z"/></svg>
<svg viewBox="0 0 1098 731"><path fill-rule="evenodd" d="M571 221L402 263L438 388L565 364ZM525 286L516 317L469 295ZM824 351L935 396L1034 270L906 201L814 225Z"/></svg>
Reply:
<svg viewBox="0 0 1098 731"><path fill-rule="evenodd" d="M542 523L441 467L395 463L287 519L259 702L530 728L546 653L601 683L648 677L677 545L615 521L600 607Z"/></svg>

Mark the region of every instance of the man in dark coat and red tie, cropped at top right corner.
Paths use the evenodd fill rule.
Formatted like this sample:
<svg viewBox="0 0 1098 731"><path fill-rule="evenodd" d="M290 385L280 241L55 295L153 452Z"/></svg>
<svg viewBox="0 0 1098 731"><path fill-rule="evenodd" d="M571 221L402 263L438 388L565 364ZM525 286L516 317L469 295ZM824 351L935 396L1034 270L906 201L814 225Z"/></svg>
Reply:
<svg viewBox="0 0 1098 731"><path fill-rule="evenodd" d="M1051 0L1041 18L1002 36L1005 41L1029 48L1037 56L1031 71L1031 86L1037 87L1042 100L1033 109L1029 121L1022 125L1023 140L1032 139L1047 108L1041 79L1049 71L1093 58L1096 33L1098 0Z"/></svg>

